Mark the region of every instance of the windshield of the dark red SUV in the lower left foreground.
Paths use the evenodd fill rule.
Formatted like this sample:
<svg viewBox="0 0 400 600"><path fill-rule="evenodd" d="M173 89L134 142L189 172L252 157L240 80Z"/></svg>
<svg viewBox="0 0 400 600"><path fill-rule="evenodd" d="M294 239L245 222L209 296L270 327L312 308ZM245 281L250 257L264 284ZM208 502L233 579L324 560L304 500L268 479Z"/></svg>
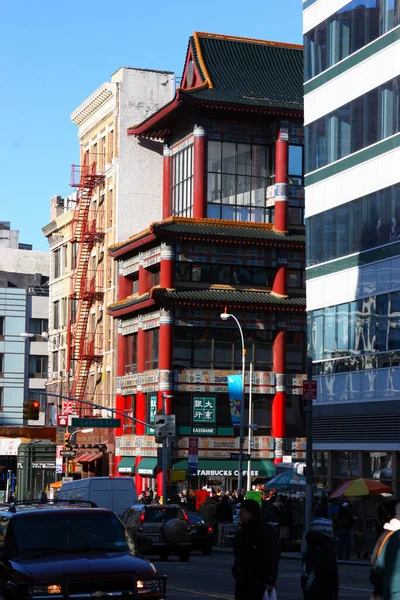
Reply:
<svg viewBox="0 0 400 600"><path fill-rule="evenodd" d="M43 514L14 519L17 555L27 552L123 552L133 549L129 536L113 514ZM14 544L13 544L14 545Z"/></svg>

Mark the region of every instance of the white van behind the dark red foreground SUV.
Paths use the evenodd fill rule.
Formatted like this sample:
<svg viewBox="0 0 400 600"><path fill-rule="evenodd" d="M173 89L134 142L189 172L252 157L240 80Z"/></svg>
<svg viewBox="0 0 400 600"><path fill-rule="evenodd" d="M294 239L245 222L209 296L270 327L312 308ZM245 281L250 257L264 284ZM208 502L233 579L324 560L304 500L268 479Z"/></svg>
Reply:
<svg viewBox="0 0 400 600"><path fill-rule="evenodd" d="M137 503L137 493L130 477L88 477L62 484L58 500L86 500L117 515Z"/></svg>

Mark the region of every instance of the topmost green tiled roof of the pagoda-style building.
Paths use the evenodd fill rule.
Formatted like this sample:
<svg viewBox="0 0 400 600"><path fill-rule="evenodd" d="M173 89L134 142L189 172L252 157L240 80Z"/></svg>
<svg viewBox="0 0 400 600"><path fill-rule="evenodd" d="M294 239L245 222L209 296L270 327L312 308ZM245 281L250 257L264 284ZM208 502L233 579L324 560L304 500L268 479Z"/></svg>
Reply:
<svg viewBox="0 0 400 600"><path fill-rule="evenodd" d="M303 50L275 44L213 34L197 34L190 45L200 73L204 61L212 88L182 90L181 95L201 101L303 110ZM206 78L204 77L204 80Z"/></svg>

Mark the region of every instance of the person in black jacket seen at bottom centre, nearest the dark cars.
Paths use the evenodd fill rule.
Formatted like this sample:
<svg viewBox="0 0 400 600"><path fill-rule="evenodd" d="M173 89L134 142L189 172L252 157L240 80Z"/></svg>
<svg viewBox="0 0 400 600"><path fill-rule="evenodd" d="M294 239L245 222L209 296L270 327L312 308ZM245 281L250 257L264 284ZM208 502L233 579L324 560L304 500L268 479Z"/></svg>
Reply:
<svg viewBox="0 0 400 600"><path fill-rule="evenodd" d="M279 537L265 523L261 507L255 500L242 502L240 521L241 528L233 541L235 600L262 600L266 590L275 590L280 558Z"/></svg>

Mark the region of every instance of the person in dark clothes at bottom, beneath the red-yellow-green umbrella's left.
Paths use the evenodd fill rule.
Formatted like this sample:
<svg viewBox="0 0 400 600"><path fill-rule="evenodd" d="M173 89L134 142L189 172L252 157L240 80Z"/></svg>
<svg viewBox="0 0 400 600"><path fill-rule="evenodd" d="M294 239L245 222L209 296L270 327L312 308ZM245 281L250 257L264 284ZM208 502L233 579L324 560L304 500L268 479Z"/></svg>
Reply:
<svg viewBox="0 0 400 600"><path fill-rule="evenodd" d="M332 521L323 507L315 510L315 519L305 535L306 551L301 567L304 600L337 600L339 572L335 552Z"/></svg>

